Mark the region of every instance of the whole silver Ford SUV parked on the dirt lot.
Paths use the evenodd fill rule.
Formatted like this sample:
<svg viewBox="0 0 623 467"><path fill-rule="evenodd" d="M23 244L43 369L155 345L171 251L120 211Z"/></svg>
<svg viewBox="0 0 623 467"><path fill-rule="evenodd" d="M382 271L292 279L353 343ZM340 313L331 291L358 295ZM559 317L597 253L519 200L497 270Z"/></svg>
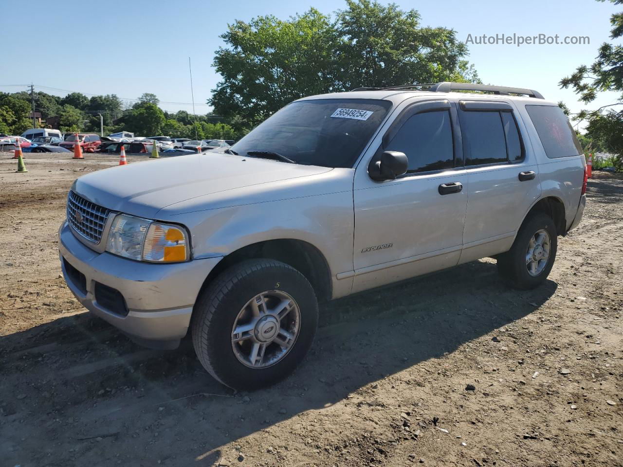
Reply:
<svg viewBox="0 0 623 467"><path fill-rule="evenodd" d="M586 204L568 120L533 90L427 87L303 98L231 148L80 177L59 230L67 285L141 344L190 329L238 389L295 369L318 301L483 257L540 285Z"/></svg>

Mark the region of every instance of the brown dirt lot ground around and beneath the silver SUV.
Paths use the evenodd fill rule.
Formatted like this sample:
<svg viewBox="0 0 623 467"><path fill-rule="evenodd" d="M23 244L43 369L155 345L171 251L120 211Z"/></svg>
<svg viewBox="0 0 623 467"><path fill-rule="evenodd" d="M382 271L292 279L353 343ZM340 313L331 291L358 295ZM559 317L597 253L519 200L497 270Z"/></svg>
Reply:
<svg viewBox="0 0 623 467"><path fill-rule="evenodd" d="M538 290L482 260L325 304L292 377L234 394L188 342L138 347L60 278L67 190L116 163L1 156L1 466L623 465L621 177L589 182Z"/></svg>

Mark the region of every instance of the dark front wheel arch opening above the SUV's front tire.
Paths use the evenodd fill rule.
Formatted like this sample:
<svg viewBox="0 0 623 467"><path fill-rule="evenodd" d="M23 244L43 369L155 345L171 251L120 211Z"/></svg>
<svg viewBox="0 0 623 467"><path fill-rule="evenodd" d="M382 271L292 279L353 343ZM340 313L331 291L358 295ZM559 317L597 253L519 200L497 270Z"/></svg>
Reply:
<svg viewBox="0 0 623 467"><path fill-rule="evenodd" d="M319 301L331 300L333 286L331 270L325 255L311 243L294 238L278 238L251 243L224 256L212 268L201 286L201 292L222 271L250 259L272 259L292 266L302 273L312 285Z"/></svg>

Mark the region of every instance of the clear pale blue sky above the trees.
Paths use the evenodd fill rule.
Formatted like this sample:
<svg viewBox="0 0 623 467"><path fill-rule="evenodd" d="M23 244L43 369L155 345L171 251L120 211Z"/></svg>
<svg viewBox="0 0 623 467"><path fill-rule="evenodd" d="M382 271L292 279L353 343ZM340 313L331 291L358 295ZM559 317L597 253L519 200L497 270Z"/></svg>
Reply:
<svg viewBox="0 0 623 467"><path fill-rule="evenodd" d="M402 9L417 9L423 26L455 29L460 40L468 34L546 34L590 37L589 45L470 45L468 59L483 82L534 88L548 100L563 100L573 111L583 106L569 90L560 90L560 78L579 64L591 64L599 45L609 40L611 2L594 0L522 2L479 1L415 2L399 0ZM161 101L189 103L188 57L193 63L197 113L206 113L206 99L219 80L212 68L219 35L227 23L273 14L285 19L310 6L330 13L345 3L329 0L264 0L177 2L109 0L57 3L32 0L27 5L5 0L0 30L2 67L0 91L15 92L24 85L64 95L60 90L86 94L115 93L136 98L155 93ZM29 19L31 18L31 19ZM76 24L77 26L74 26ZM32 26L29 26L32 25ZM400 83L397 83L400 84ZM591 108L611 103L600 97ZM190 105L166 104L175 111Z"/></svg>

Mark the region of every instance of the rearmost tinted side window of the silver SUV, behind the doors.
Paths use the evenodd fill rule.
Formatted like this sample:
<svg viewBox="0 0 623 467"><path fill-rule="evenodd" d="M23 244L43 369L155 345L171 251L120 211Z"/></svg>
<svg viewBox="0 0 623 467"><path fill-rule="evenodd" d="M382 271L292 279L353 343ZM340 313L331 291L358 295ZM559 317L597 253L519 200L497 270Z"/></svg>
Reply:
<svg viewBox="0 0 623 467"><path fill-rule="evenodd" d="M584 153L576 132L560 107L526 105L526 111L535 125L548 158L557 159Z"/></svg>

